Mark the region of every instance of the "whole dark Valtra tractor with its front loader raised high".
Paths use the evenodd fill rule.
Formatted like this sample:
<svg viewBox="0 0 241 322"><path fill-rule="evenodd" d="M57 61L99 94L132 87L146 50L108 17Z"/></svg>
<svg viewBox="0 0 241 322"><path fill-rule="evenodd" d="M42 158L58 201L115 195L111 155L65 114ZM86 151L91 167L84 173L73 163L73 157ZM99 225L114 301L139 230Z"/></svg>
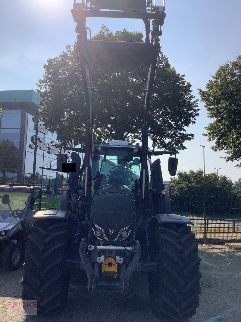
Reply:
<svg viewBox="0 0 241 322"><path fill-rule="evenodd" d="M86 271L91 292L126 293L134 270L148 272L150 304L159 317L190 318L199 306L200 258L192 222L172 214L160 159L151 160L153 156L172 155L168 170L175 175L176 152L148 148L164 9L164 5L146 0L74 2L72 15L77 23L86 102L85 148L62 148L73 153L71 164L64 153L57 159L58 170L70 173L68 180L63 180L60 210L39 211L33 216L22 299L37 299L38 313L63 310L71 268ZM88 40L86 17L142 19L145 42ZM93 61L112 68L148 67L141 144L93 144L94 99L89 70ZM82 166L78 152L85 154Z"/></svg>

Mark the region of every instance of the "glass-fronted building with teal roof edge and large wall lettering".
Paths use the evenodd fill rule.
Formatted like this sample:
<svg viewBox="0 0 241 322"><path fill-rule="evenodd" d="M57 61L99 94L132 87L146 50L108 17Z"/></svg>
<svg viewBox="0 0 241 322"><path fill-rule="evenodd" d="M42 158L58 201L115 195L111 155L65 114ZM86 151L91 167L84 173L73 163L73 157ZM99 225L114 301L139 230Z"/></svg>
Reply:
<svg viewBox="0 0 241 322"><path fill-rule="evenodd" d="M0 185L34 182L36 131L32 117L38 115L38 99L33 90L0 91L0 108L3 109L0 115ZM54 190L61 187L63 177L55 171L59 153L56 133L49 132L42 124L37 127L35 184L49 185ZM71 151L66 153L70 159Z"/></svg>

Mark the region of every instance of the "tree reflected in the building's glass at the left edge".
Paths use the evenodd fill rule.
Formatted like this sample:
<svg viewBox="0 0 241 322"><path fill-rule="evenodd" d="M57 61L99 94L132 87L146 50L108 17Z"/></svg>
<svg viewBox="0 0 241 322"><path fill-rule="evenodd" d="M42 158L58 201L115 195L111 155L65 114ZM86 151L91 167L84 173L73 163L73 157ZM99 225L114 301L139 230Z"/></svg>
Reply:
<svg viewBox="0 0 241 322"><path fill-rule="evenodd" d="M18 148L9 139L0 142L0 172L5 183L6 172L16 173L18 160Z"/></svg>

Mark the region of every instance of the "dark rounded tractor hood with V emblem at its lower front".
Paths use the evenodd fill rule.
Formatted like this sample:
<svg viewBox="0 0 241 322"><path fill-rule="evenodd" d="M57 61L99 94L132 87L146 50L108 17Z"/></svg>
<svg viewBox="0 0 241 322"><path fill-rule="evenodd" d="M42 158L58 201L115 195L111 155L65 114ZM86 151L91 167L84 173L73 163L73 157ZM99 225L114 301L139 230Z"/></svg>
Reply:
<svg viewBox="0 0 241 322"><path fill-rule="evenodd" d="M103 230L107 242L118 241L121 230L131 226L135 219L135 200L126 185L105 185L97 190L91 208L91 218ZM129 227L129 228L128 228Z"/></svg>

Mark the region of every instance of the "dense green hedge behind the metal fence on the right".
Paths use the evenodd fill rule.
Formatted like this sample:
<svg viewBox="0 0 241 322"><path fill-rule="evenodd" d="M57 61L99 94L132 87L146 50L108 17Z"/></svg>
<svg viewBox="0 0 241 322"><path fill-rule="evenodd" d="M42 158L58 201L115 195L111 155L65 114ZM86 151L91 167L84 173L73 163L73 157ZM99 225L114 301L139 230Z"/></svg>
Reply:
<svg viewBox="0 0 241 322"><path fill-rule="evenodd" d="M171 178L170 194L174 212L202 216L205 195L206 213L212 217L241 215L240 189L234 187L226 175L219 176L211 172L203 177L202 169L178 172L177 177Z"/></svg>

